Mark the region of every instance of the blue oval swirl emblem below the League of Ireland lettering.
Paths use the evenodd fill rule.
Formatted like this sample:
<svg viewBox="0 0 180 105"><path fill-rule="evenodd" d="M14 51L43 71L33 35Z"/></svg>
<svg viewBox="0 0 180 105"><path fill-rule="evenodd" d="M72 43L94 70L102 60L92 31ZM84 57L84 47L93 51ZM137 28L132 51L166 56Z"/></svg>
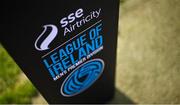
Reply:
<svg viewBox="0 0 180 105"><path fill-rule="evenodd" d="M72 97L88 89L102 74L104 62L101 59L90 60L74 70L63 82L61 94Z"/></svg>

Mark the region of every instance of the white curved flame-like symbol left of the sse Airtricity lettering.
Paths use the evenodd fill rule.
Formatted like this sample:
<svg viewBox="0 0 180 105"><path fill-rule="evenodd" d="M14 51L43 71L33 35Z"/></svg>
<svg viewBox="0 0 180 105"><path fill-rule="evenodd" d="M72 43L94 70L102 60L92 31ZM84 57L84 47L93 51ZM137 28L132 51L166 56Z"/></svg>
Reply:
<svg viewBox="0 0 180 105"><path fill-rule="evenodd" d="M47 32L47 29L50 28L51 32L50 34L44 39L44 41L42 41L42 37L44 36L44 34ZM35 42L35 48L39 51L44 51L44 50L48 50L49 49L49 45L50 43L55 39L55 37L58 34L58 28L55 25L45 25L44 26L44 30L41 33L41 35L37 38L36 42ZM40 41L42 41L40 43ZM40 43L40 44L39 44Z"/></svg>

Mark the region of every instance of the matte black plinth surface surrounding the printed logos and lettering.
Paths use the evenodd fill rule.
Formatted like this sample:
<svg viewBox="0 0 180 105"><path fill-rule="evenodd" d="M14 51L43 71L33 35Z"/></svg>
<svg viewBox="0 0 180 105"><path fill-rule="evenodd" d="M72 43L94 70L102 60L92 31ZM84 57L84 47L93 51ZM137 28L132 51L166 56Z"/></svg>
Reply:
<svg viewBox="0 0 180 105"><path fill-rule="evenodd" d="M76 0L73 3L69 0L12 1L10 4L7 2L2 9L1 43L49 103L104 103L114 92L118 2L118 0ZM49 77L41 62L41 56L45 53L35 50L34 42L39 31L42 31L42 25L57 25L59 19L80 7L85 11L97 8L103 10L100 19L103 23L104 50L94 58L102 58L106 66L102 77L86 92L73 98L65 98L59 93L62 80L54 82ZM97 21L86 24L73 34L81 32ZM69 38L58 36L51 47L55 48Z"/></svg>

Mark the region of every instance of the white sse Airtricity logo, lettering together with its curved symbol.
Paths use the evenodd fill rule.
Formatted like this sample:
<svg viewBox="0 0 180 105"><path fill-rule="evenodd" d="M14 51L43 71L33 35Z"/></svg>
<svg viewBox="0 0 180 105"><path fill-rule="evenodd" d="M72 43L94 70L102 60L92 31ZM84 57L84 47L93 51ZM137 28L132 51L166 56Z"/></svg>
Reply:
<svg viewBox="0 0 180 105"><path fill-rule="evenodd" d="M60 20L61 30L63 30L64 36L70 35L76 29L83 27L88 22L95 20L100 17L101 8L91 11L88 15L84 15L84 10L82 8L77 9L75 12L70 13L68 16L63 17ZM44 30L41 35L35 41L35 48L38 51L48 50L49 45L58 35L58 28L53 24L44 25ZM51 29L50 34L47 36L46 33L49 32L48 29ZM47 36L47 37L46 37Z"/></svg>

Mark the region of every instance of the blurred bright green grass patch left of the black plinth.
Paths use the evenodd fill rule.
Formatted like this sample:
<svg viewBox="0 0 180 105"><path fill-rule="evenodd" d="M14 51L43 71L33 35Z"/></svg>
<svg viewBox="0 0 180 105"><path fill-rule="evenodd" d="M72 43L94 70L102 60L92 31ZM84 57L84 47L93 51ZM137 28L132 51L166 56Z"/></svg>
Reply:
<svg viewBox="0 0 180 105"><path fill-rule="evenodd" d="M0 45L0 104L30 104L37 91Z"/></svg>

